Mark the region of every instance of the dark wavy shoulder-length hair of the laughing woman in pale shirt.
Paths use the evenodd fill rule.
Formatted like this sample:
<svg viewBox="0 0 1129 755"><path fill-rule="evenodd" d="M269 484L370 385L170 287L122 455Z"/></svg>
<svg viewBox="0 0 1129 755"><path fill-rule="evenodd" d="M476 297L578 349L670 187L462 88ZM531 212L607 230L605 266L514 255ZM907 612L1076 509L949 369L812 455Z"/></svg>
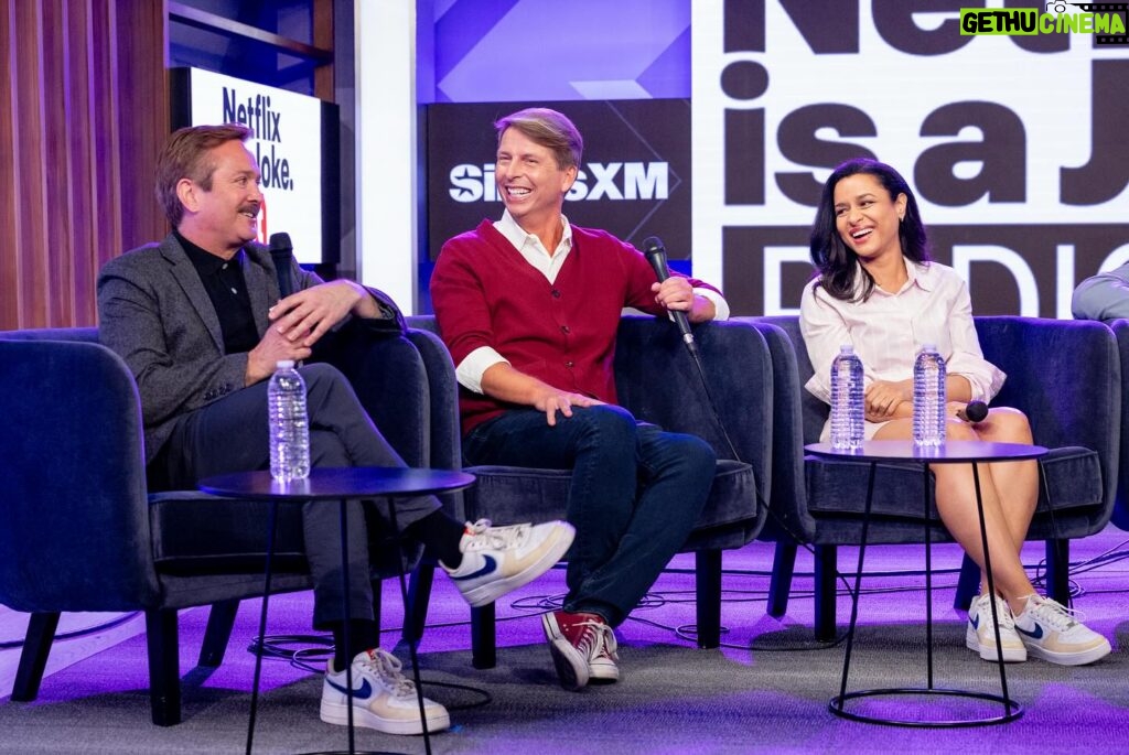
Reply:
<svg viewBox="0 0 1129 755"><path fill-rule="evenodd" d="M837 299L843 301L866 301L874 292L874 278L866 269L860 267L858 255L843 244L835 226L835 185L848 176L868 173L878 179L890 199L896 200L899 194L905 194L905 217L898 226L898 239L902 245L902 254L912 262L929 262L929 242L926 238L921 213L918 212L917 199L901 174L885 163L869 158L847 160L828 177L820 196L820 207L815 211L815 223L812 226L811 251L812 262L819 273L813 286L823 289ZM855 275L861 270L864 275L863 290L855 296Z"/></svg>

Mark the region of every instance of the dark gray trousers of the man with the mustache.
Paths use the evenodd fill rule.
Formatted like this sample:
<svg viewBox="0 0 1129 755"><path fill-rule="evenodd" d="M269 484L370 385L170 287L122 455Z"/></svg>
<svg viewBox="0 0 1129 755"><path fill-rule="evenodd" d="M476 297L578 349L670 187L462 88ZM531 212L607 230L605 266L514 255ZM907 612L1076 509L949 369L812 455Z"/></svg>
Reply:
<svg viewBox="0 0 1129 755"><path fill-rule="evenodd" d="M336 368L318 363L298 371L306 381L312 466L404 466ZM185 489L195 488L196 481L212 475L266 469L269 440L264 380L180 418L150 464L151 473L174 489ZM367 579L369 542L370 535L379 533L380 525L387 521L387 501L350 501L347 508L350 615L371 617L373 586ZM396 524L403 529L439 508L434 497L397 499ZM304 504L301 513L306 558L314 579L314 625L324 629L344 617L340 507L331 501L315 501Z"/></svg>

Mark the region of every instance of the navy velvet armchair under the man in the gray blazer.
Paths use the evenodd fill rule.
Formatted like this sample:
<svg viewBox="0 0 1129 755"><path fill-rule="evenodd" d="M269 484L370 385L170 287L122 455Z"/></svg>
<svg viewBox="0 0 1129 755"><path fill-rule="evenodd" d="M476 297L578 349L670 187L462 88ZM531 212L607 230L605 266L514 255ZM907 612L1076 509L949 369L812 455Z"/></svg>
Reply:
<svg viewBox="0 0 1129 755"><path fill-rule="evenodd" d="M429 466L412 339L438 342L342 344L338 366L405 462ZM218 666L239 600L262 595L268 504L149 491L137 386L95 328L0 332L0 603L32 614L12 700L37 695L60 612L141 611L152 720L180 722L177 611L211 606L199 664ZM310 587L299 509L279 508L272 591ZM374 577L396 573L399 552L380 556Z"/></svg>

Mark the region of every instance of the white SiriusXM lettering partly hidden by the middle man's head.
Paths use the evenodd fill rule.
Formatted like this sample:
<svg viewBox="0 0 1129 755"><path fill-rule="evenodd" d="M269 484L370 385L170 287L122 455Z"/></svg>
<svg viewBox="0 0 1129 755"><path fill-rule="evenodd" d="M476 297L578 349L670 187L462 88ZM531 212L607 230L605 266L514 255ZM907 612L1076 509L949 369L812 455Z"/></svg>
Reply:
<svg viewBox="0 0 1129 755"><path fill-rule="evenodd" d="M588 163L577 174L564 199L665 200L669 196L669 166L666 163ZM456 202L500 202L495 185L493 163L481 166L463 163L450 169L450 199Z"/></svg>

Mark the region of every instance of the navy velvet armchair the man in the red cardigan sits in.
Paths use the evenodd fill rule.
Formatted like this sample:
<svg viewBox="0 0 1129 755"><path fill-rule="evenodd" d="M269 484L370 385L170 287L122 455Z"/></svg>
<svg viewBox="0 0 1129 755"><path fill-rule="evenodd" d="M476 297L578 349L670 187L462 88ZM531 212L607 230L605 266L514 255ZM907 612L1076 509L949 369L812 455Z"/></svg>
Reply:
<svg viewBox="0 0 1129 755"><path fill-rule="evenodd" d="M436 330L432 317L410 317L409 325ZM718 455L717 475L698 526L684 552L695 553L698 644L715 648L720 642L721 551L737 548L760 532L767 515L772 448L773 376L768 344L747 323L709 323L694 328L702 353L709 390L726 423L723 431L704 398L701 379L682 344L677 330L653 317L627 316L621 321L615 352L615 384L620 403L637 418L665 429L694 433L709 441ZM432 386L432 397L449 396L448 420L436 419L435 427L448 429L432 442L432 462L443 466L439 449L452 442L446 464L462 466L458 446L456 384L450 357L421 349L429 365L428 375L441 376L438 366L447 366L446 386ZM435 418L434 418L435 419ZM727 432L736 450L729 448ZM476 484L463 493L463 516L485 517L497 524L544 521L564 518L569 473L507 466L467 467ZM430 585L429 567L418 570L413 585L426 595ZM417 616L409 639L418 638L426 600L417 604ZM495 606L471 612L472 656L478 668L496 662Z"/></svg>

